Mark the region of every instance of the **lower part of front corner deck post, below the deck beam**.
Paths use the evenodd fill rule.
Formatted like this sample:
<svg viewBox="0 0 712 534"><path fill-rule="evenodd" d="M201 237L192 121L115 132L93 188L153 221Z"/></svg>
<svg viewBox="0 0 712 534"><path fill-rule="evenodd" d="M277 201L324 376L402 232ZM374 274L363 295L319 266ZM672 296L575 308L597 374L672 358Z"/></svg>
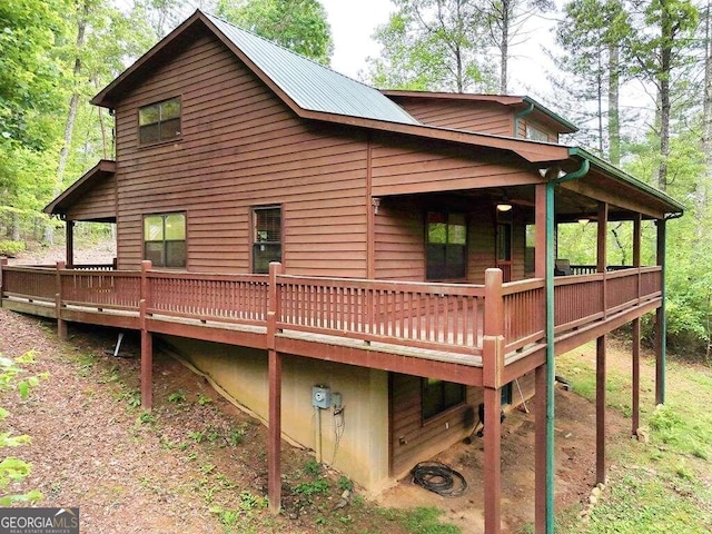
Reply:
<svg viewBox="0 0 712 534"><path fill-rule="evenodd" d="M502 390L484 388L485 397L485 451L484 451L484 501L485 532L502 532Z"/></svg>

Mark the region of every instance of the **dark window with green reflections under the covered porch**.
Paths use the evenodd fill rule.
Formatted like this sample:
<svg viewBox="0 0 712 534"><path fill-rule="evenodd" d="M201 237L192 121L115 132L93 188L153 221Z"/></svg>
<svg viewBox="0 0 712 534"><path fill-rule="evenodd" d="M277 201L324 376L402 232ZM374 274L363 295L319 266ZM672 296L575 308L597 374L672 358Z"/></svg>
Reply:
<svg viewBox="0 0 712 534"><path fill-rule="evenodd" d="M427 279L465 278L467 274L465 214L428 211L426 226Z"/></svg>

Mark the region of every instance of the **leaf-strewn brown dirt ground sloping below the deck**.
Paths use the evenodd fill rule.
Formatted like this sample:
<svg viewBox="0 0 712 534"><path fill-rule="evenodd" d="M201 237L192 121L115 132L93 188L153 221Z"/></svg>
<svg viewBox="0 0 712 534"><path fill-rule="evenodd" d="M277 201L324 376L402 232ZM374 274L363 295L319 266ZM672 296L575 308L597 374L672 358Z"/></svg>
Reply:
<svg viewBox="0 0 712 534"><path fill-rule="evenodd" d="M17 490L40 490L42 506L80 506L82 532L91 534L337 532L328 522L324 526L319 515L333 502L307 506L290 492L313 455L287 444L283 516L261 530L226 528L216 510L243 510L245 494L266 495L265 427L202 377L160 353L154 368L155 409L142 415L136 407L137 339L128 336L121 350L128 357L115 358L107 352L116 344L116 330L72 325L70 335L60 342L53 322L0 309L0 354L17 357L34 350L37 363L29 372L48 374L28 400L7 393L0 398L12 413L6 422L9 429L32 437L31 445L13 452L33 464L32 474ZM626 359L624 352L611 354ZM575 393L557 388L555 395L556 507L562 510L580 506L593 487L595 409ZM515 409L503 423L505 533L517 532L534 517L534 400L527 407L530 414ZM629 438L627 419L611 411L607 418L611 439ZM230 436L240 437L239 446L228 446ZM434 458L465 476L468 488L461 497L444 498L404 479L376 502L396 508L436 506L463 533L482 533L482 458L477 437ZM339 494L325 498L338 501ZM403 532L384 525L368 507L346 510L350 527L338 532Z"/></svg>

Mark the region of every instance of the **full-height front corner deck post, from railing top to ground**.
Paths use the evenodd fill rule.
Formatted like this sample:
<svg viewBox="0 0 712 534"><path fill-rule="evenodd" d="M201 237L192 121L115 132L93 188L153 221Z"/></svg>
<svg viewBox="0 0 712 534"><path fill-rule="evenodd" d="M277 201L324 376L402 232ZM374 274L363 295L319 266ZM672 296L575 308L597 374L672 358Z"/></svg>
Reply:
<svg viewBox="0 0 712 534"><path fill-rule="evenodd" d="M502 372L504 370L504 297L502 270L485 271L485 324L482 347L485 400L485 532L502 532Z"/></svg>

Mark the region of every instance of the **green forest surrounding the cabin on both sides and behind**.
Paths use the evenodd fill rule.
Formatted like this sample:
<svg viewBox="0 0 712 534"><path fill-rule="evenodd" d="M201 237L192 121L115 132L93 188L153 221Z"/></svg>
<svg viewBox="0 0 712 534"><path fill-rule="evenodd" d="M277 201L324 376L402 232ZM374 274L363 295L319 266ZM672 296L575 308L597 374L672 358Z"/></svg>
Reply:
<svg viewBox="0 0 712 534"><path fill-rule="evenodd" d="M386 0L384 0L385 2ZM712 363L711 0L390 0L363 81L378 88L508 92L513 51L555 32L536 97L581 130L565 139L685 205L668 225L669 346ZM112 118L90 98L200 8L324 65L333 36L318 0L2 0L0 254L50 245L42 208L113 158ZM537 26L538 24L538 26ZM553 26L552 26L553 24ZM536 44L534 44L536 43ZM611 264L632 229L609 225ZM109 237L111 225L78 229ZM595 264L595 225L567 225L560 250ZM644 228L647 265L655 228Z"/></svg>

